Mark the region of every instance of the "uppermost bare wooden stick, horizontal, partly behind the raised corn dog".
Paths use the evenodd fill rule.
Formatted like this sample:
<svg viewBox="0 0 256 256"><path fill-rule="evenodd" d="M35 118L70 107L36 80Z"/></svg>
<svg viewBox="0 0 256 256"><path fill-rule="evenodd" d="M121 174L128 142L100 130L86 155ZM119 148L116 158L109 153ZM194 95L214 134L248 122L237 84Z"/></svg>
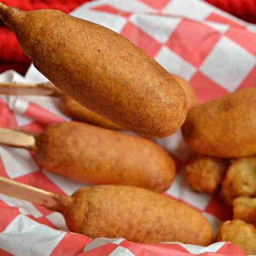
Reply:
<svg viewBox="0 0 256 256"><path fill-rule="evenodd" d="M52 83L0 82L0 94L55 96L56 93Z"/></svg>

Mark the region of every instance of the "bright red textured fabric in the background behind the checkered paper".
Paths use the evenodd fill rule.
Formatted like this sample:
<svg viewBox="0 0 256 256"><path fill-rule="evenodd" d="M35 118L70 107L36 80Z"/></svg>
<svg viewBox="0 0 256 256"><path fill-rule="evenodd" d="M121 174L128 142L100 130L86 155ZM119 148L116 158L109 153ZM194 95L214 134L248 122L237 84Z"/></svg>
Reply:
<svg viewBox="0 0 256 256"><path fill-rule="evenodd" d="M51 8L59 9L66 13L88 1L90 0L1 0L3 4L19 7L23 10ZM255 0L206 1L238 18L256 23ZM22 53L14 34L9 28L0 23L0 73L8 69L14 69L20 74L25 74L30 63L31 61Z"/></svg>

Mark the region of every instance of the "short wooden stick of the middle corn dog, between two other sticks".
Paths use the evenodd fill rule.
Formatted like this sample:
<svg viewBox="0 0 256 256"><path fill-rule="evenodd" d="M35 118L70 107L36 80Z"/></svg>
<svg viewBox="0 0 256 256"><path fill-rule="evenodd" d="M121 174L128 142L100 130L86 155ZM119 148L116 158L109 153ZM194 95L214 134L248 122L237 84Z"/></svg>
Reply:
<svg viewBox="0 0 256 256"><path fill-rule="evenodd" d="M35 142L33 135L18 130L0 128L0 144L18 148L36 149Z"/></svg>

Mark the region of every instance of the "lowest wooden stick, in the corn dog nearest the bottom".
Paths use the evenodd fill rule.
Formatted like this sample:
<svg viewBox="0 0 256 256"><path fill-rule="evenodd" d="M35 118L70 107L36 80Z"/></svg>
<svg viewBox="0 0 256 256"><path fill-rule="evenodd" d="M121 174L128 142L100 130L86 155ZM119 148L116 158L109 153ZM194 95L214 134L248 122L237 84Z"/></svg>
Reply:
<svg viewBox="0 0 256 256"><path fill-rule="evenodd" d="M34 202L45 206L48 209L54 209L58 205L58 196L52 192L43 189L15 182L13 180L0 176L0 193L13 196L29 202Z"/></svg>

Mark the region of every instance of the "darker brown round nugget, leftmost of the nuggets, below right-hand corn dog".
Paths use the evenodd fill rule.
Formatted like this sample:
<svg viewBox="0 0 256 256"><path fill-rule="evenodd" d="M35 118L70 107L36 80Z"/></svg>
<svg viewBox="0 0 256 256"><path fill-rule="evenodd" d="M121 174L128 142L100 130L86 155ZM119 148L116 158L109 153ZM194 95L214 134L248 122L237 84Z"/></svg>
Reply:
<svg viewBox="0 0 256 256"><path fill-rule="evenodd" d="M197 157L186 167L186 180L197 192L212 194L222 182L227 162L213 157Z"/></svg>

